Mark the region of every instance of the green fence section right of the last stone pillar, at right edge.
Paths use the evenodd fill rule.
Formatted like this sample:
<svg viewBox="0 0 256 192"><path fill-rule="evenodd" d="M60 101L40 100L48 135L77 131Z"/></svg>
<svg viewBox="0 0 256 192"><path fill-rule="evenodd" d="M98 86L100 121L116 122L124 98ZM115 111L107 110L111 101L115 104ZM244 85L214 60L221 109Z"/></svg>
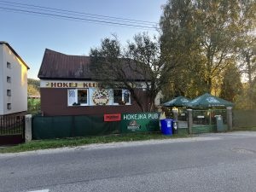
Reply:
<svg viewBox="0 0 256 192"><path fill-rule="evenodd" d="M234 128L256 127L256 110L233 110Z"/></svg>

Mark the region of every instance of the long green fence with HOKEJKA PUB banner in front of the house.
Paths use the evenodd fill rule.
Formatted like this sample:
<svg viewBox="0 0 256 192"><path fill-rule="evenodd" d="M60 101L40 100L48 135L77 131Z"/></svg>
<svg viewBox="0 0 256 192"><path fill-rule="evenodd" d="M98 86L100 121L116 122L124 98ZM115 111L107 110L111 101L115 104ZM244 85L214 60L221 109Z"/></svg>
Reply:
<svg viewBox="0 0 256 192"><path fill-rule="evenodd" d="M32 118L32 139L101 136L129 132L160 131L159 113L123 113L120 121L104 121L103 115Z"/></svg>

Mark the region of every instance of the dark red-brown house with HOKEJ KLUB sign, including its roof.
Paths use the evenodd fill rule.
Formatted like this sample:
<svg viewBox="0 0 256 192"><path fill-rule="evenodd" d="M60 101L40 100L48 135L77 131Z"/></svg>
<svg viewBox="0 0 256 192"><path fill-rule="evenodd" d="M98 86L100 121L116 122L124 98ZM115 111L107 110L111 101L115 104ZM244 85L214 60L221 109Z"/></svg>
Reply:
<svg viewBox="0 0 256 192"><path fill-rule="evenodd" d="M65 55L45 49L38 78L44 116L141 112L129 90L103 89L100 81L93 79L90 56ZM137 78L141 86L135 91L147 108L143 80Z"/></svg>

